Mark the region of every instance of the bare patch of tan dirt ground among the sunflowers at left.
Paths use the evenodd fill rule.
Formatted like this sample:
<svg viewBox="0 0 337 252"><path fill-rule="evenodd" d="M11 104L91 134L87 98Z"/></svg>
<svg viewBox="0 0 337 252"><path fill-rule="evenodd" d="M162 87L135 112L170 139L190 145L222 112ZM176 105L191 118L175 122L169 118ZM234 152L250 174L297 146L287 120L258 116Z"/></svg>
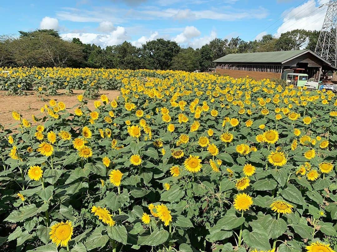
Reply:
<svg viewBox="0 0 337 252"><path fill-rule="evenodd" d="M44 104L49 103L50 100L54 99L56 102L62 101L65 103L67 109L71 109L73 106L79 103L77 96L83 94L83 90L74 90L74 94L66 95L65 90L59 90L56 96L44 96L44 101L41 101L40 97L34 92L29 92L28 95L24 96L8 96L5 92L0 92L0 124L2 124L5 129L9 128L10 124L16 123L12 117L12 111L18 111L23 118L32 120L32 114L38 115L40 113L40 108ZM116 98L119 95L117 90L100 90L100 95L108 96L109 100ZM100 98L98 97L98 99ZM88 101L89 109L93 110L95 100Z"/></svg>

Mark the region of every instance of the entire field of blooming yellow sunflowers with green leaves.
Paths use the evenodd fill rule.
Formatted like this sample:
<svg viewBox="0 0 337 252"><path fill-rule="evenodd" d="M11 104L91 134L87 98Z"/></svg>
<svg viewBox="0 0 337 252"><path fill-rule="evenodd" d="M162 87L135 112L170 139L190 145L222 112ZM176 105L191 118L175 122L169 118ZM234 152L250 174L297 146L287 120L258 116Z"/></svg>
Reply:
<svg viewBox="0 0 337 252"><path fill-rule="evenodd" d="M120 96L102 95L93 111L82 95L69 109L50 100L33 120L13 111L17 129L0 132L6 251L337 250L331 91L180 71L58 71L79 76L47 74L47 84L90 72L101 83L110 72L104 81L120 81Z"/></svg>

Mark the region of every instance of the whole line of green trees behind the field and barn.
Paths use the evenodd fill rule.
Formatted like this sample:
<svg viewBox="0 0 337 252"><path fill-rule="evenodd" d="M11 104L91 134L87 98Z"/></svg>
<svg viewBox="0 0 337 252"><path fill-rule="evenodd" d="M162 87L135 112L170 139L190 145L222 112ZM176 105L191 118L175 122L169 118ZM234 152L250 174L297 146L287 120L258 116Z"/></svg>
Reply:
<svg viewBox="0 0 337 252"><path fill-rule="evenodd" d="M0 67L92 67L120 69L161 69L207 71L212 61L229 53L315 50L319 31L293 30L276 38L244 41L215 38L201 48L182 48L175 41L158 38L141 48L130 42L101 48L85 44L79 38L63 40L55 30L19 31L19 36L0 36Z"/></svg>

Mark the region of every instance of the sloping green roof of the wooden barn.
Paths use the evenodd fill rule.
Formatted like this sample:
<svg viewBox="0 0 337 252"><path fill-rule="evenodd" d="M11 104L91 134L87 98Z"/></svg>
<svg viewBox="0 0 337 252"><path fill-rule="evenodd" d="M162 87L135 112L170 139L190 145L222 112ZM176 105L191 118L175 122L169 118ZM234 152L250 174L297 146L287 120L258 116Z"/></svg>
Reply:
<svg viewBox="0 0 337 252"><path fill-rule="evenodd" d="M268 51L268 52L249 52L249 53L231 53L221 57L213 62L218 63L276 63L283 64L289 60L292 60L304 53L311 53L315 57L319 58L326 64L330 63L318 56L309 49L304 50L292 50L292 51Z"/></svg>

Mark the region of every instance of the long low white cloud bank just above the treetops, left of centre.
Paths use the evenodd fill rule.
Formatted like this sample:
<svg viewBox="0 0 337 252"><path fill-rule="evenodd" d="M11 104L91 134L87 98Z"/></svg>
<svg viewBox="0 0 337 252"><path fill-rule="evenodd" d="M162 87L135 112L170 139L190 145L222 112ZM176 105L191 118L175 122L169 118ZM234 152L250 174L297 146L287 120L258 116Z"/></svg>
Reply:
<svg viewBox="0 0 337 252"><path fill-rule="evenodd" d="M97 34L97 33L64 33L61 34L63 39L79 38L83 43L94 43L102 47L110 45L118 45L123 43L125 40L130 39L127 36L125 28L117 26L116 30L109 34Z"/></svg>

